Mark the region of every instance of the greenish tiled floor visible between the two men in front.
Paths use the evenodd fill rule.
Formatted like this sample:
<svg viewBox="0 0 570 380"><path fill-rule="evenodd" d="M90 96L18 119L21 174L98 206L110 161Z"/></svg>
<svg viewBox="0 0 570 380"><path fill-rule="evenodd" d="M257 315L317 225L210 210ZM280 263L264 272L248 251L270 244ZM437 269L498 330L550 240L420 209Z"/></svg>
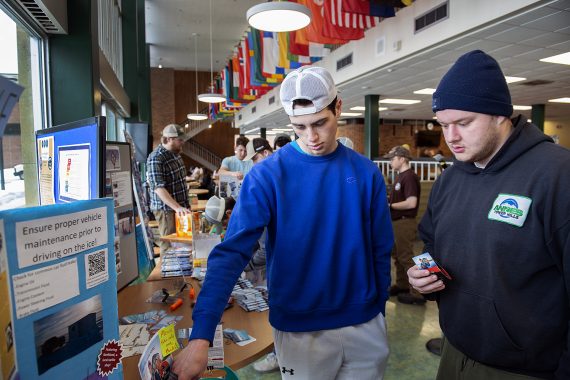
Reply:
<svg viewBox="0 0 570 380"><path fill-rule="evenodd" d="M416 244L416 249L421 249ZM428 352L426 342L441 336L435 302L404 305L391 297L386 304L390 357L384 380L433 380L439 356ZM241 380L278 380L279 372L260 374L252 365L237 371Z"/></svg>

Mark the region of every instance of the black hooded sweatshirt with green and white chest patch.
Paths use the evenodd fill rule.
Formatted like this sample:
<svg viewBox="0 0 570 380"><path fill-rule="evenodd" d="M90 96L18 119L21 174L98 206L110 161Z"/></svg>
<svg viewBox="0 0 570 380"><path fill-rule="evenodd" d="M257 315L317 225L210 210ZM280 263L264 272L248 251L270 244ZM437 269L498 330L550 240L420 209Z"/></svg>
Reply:
<svg viewBox="0 0 570 380"><path fill-rule="evenodd" d="M441 328L473 360L570 379L570 151L519 116L484 169L454 161L419 231L453 277Z"/></svg>

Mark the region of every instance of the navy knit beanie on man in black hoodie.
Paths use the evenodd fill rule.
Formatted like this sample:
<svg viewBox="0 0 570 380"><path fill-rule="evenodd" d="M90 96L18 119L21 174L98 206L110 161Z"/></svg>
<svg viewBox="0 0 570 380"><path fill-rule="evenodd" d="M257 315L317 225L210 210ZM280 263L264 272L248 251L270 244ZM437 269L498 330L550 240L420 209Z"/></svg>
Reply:
<svg viewBox="0 0 570 380"><path fill-rule="evenodd" d="M431 108L433 112L454 109L507 117L513 113L499 64L481 50L459 57L437 86Z"/></svg>

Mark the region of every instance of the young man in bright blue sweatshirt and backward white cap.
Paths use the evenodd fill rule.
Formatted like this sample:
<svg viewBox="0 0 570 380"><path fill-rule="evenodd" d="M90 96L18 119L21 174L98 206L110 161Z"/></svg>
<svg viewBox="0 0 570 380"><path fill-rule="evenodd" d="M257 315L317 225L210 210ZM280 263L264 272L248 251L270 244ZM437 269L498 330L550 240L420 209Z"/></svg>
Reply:
<svg viewBox="0 0 570 380"><path fill-rule="evenodd" d="M174 373L197 378L253 246L267 228L269 321L281 376L382 379L393 233L382 174L337 143L341 101L320 67L280 89L299 139L245 177L224 242L210 254L189 345Z"/></svg>

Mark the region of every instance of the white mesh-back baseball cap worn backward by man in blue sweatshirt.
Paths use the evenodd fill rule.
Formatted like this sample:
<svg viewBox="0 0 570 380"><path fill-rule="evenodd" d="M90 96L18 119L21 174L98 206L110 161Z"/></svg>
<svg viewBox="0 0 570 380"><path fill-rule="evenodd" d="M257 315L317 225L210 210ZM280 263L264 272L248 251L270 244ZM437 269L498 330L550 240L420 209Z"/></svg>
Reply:
<svg viewBox="0 0 570 380"><path fill-rule="evenodd" d="M303 66L291 71L281 83L281 104L289 116L317 113L325 109L337 96L331 74L322 67ZM305 99L310 107L293 109L295 100Z"/></svg>

